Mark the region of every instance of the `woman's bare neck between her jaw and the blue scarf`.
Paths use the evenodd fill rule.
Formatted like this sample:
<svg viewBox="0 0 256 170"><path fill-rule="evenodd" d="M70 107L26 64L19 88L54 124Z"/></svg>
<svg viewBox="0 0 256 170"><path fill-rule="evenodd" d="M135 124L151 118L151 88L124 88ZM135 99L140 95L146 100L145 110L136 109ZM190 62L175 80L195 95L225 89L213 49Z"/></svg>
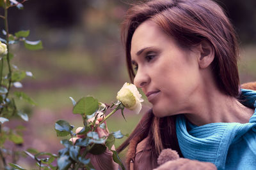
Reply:
<svg viewBox="0 0 256 170"><path fill-rule="evenodd" d="M185 114L192 124L205 125L216 122L244 124L250 120L254 112L252 109L243 106L235 97L221 93L211 81L205 83L195 91L195 96L191 100L193 104Z"/></svg>

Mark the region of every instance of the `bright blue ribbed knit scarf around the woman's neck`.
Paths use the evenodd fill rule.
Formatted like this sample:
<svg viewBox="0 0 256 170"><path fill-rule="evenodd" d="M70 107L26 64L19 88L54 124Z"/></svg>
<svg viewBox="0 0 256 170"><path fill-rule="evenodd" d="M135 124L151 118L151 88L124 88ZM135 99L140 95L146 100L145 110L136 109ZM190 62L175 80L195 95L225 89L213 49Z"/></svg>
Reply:
<svg viewBox="0 0 256 170"><path fill-rule="evenodd" d="M242 103L249 108L256 108L256 91L242 89L241 92ZM255 129L256 109L246 124L221 122L196 126L189 123L184 115L179 115L176 121L177 138L184 157L212 162L218 169L225 169L226 159L237 160L236 155L227 158L230 145L236 143L248 131L255 131ZM254 134L252 140L256 142ZM255 157L256 162L256 155L250 156ZM256 169L255 162L253 167Z"/></svg>

